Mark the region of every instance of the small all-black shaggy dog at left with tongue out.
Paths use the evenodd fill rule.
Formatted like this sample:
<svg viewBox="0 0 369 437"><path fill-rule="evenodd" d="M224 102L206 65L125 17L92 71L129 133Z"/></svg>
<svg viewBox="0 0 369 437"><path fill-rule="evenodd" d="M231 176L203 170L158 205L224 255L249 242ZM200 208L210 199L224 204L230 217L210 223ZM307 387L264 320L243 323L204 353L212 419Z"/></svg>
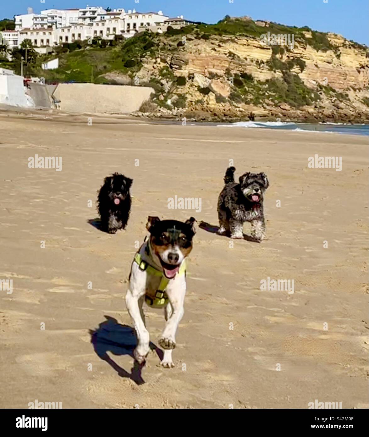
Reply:
<svg viewBox="0 0 369 437"><path fill-rule="evenodd" d="M97 209L101 218L101 230L115 234L124 229L131 211L129 188L133 179L114 173L104 179L97 197Z"/></svg>

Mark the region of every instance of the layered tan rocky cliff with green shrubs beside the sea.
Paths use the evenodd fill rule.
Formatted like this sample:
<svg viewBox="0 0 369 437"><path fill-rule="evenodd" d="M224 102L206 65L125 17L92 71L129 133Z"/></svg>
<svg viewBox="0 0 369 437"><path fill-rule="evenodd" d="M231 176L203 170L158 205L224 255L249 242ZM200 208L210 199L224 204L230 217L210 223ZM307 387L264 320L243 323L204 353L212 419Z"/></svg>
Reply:
<svg viewBox="0 0 369 437"><path fill-rule="evenodd" d="M294 44L268 45L262 40L267 32L293 35ZM228 17L213 26L145 32L133 40L134 51L132 42L122 49L128 75L155 89L141 113L199 120L368 120L368 50L340 35Z"/></svg>

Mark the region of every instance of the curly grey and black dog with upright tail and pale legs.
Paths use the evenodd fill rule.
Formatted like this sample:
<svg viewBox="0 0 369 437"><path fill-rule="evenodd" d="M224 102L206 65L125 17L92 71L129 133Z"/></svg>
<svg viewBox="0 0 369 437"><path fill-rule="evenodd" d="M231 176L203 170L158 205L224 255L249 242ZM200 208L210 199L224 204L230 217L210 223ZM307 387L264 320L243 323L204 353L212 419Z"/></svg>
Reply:
<svg viewBox="0 0 369 437"><path fill-rule="evenodd" d="M224 175L218 199L218 233L243 239L243 224L251 222L251 235L260 242L265 236L263 194L269 187L268 178L265 173L244 173L237 184L235 170L229 167Z"/></svg>

